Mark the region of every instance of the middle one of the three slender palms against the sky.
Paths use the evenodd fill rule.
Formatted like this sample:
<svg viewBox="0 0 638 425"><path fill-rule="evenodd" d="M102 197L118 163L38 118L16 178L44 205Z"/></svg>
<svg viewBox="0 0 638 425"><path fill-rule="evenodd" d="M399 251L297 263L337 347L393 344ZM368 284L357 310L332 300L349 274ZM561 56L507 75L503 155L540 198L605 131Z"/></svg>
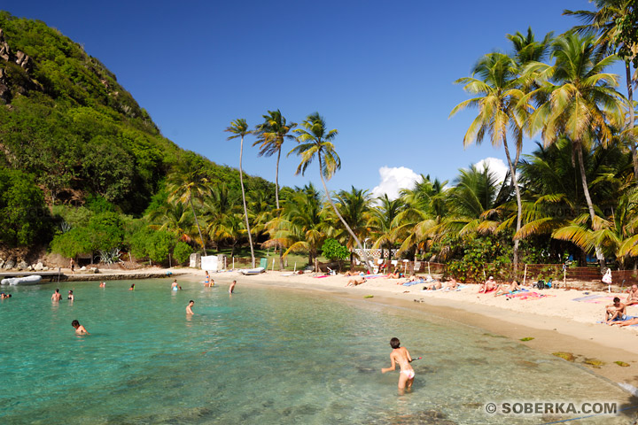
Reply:
<svg viewBox="0 0 638 425"><path fill-rule="evenodd" d="M279 209L279 158L281 157L281 147L286 139L294 139L290 134L292 128L297 127L294 122L287 123L286 119L278 109L276 111L268 111L268 115L262 115L264 122L258 125L254 130L257 141L253 146L260 145L259 155L271 157L277 154L276 172L275 172L275 202L276 208Z"/></svg>

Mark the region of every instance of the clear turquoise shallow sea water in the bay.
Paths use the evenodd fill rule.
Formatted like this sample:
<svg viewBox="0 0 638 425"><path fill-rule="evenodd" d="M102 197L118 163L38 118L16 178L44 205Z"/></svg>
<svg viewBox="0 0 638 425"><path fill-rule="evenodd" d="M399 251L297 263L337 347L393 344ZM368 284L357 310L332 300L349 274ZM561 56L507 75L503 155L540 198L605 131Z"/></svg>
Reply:
<svg viewBox="0 0 638 425"><path fill-rule="evenodd" d="M171 279L7 288L0 302L2 423L542 423L488 401L621 401L616 386L478 328L374 300ZM75 301L51 303L59 287ZM195 316L185 306L195 300ZM416 317L415 317L416 316ZM71 321L91 333L75 336ZM398 396L388 341L413 357ZM626 423L598 418L569 423Z"/></svg>

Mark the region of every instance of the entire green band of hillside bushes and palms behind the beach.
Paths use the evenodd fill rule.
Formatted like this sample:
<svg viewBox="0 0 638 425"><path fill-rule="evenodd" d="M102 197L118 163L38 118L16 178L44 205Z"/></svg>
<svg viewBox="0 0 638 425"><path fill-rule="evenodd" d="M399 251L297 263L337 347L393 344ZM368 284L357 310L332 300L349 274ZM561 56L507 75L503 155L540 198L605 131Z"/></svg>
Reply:
<svg viewBox="0 0 638 425"><path fill-rule="evenodd" d="M242 119L231 123L240 161L244 137L253 136L261 155L298 155L297 173L317 167L323 192L253 178L244 179L242 191L237 170L164 139L79 46L42 23L0 15L6 39L34 59L31 73L5 64L12 81L21 82L0 112L4 167L32 175L25 190L43 189L35 207L52 206L51 249L68 256L98 251L114 261L122 250L161 262L169 252L181 260L222 248L234 255L252 244L250 232L282 259L301 252L312 263L322 251L344 259L341 245L354 259L361 242L370 241L386 258L396 250L401 258L447 262L463 279L480 279L486 267L570 256L581 264L594 256L601 267L634 267L636 11L629 1L595 4L595 12L565 12L584 24L564 35L508 35L510 51L478 58L471 76L456 81L473 97L452 114L478 112L463 144L488 138L502 146L510 169L504 182L488 168L469 166L453 182L422 174L398 199L373 199L354 187L330 192L327 182L340 167L337 130L318 113L297 128L280 111L268 111L253 130ZM626 64L626 95L619 76L608 73L619 60ZM538 140L531 155L522 154L525 136ZM292 139L298 144L284 149ZM48 235L45 228L28 231ZM12 237L3 240L35 238Z"/></svg>

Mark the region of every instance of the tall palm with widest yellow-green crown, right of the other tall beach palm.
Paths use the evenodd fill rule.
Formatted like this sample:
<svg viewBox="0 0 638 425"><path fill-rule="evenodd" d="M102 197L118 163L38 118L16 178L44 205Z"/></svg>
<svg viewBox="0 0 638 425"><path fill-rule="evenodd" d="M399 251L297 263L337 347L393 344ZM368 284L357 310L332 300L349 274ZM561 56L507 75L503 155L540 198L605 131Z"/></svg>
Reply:
<svg viewBox="0 0 638 425"><path fill-rule="evenodd" d="M603 56L601 46L595 44L591 35L580 38L568 33L556 39L551 52L555 65L530 64L526 72L537 75L542 85L521 98L521 104L536 95L548 98L529 117L528 131L534 135L541 130L545 145L555 143L560 136L572 141L589 218L595 230L597 220L587 186L583 149L594 140L603 147L611 142L612 127L620 127L622 123L624 104L622 95L614 89L618 76L603 73L617 58ZM595 246L595 252L603 268L605 260L600 246Z"/></svg>

